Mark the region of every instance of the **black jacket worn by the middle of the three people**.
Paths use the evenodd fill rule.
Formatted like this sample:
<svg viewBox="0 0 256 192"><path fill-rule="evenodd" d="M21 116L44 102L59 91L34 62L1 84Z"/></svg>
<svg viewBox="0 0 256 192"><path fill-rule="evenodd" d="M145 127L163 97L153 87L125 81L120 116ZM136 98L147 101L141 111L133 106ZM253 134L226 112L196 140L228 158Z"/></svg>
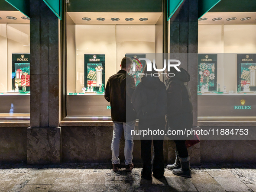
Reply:
<svg viewBox="0 0 256 192"><path fill-rule="evenodd" d="M154 119L166 114L167 94L159 77L142 77L133 96L133 108L138 119Z"/></svg>

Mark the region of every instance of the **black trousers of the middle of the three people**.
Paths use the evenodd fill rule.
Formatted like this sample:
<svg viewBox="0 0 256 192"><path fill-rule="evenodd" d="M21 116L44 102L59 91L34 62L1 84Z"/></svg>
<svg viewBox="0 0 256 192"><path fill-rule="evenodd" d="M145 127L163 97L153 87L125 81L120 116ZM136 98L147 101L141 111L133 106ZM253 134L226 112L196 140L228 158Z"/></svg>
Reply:
<svg viewBox="0 0 256 192"><path fill-rule="evenodd" d="M139 130L164 130L165 117L139 120ZM142 176L145 178L151 177L152 171L155 176L161 177L164 175L164 152L163 152L163 138L164 135L148 135L147 137L140 136L141 144L141 158L143 161ZM151 144L153 139L153 155L151 158Z"/></svg>

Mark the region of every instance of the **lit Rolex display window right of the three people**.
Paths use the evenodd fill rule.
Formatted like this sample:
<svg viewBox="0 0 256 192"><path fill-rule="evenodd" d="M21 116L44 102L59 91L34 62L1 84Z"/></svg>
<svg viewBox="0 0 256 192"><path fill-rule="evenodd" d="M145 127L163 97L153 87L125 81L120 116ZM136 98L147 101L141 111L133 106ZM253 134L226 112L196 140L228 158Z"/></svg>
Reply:
<svg viewBox="0 0 256 192"><path fill-rule="evenodd" d="M198 21L198 120L256 120L256 13Z"/></svg>

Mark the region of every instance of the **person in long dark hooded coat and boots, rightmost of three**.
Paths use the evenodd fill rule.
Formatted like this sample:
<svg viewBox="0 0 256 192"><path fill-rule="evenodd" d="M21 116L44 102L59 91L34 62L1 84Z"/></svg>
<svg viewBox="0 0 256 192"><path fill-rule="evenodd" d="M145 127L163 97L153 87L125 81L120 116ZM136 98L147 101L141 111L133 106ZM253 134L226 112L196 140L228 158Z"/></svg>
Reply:
<svg viewBox="0 0 256 192"><path fill-rule="evenodd" d="M185 130L193 128L193 106L191 93L187 85L190 81L188 72L180 68L180 72L173 70L175 76L167 81L167 121L169 130ZM172 165L167 165L168 170L178 176L191 178L189 155L186 140L174 140L176 144L176 160Z"/></svg>

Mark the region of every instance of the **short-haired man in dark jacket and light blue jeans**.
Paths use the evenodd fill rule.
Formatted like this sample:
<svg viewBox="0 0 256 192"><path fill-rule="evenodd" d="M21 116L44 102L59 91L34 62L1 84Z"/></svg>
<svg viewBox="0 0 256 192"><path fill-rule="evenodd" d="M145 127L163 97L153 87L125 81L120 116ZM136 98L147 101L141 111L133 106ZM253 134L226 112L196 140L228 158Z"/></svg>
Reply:
<svg viewBox="0 0 256 192"><path fill-rule="evenodd" d="M136 116L133 110L131 97L135 90L135 82L126 71L131 68L132 60L124 57L121 61L121 70L111 76L106 84L105 99L110 102L111 118L114 123L113 139L111 144L113 171L117 171L120 160L119 144L124 131L124 156L126 171L131 171L133 165L133 135L131 131L135 128Z"/></svg>

